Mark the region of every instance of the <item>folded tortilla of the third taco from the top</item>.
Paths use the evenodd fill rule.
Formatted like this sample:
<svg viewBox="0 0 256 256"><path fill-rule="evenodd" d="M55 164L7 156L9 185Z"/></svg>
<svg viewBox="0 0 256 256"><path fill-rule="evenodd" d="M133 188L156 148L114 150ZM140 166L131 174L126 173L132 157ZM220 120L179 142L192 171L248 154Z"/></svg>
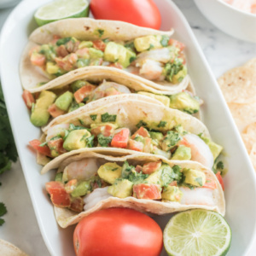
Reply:
<svg viewBox="0 0 256 256"><path fill-rule="evenodd" d="M125 95L125 97L128 95ZM108 101L111 97L103 98L102 100ZM108 113L108 115L116 115L114 124L118 128L129 128L131 133L137 131L137 125L140 122L148 125L151 130L156 131L170 131L177 125L182 125L185 131L193 133L195 135L201 134L203 137L210 138L207 127L195 117L187 113L183 113L176 109L166 108L160 104L154 104L152 102L145 102L139 99L121 99L120 101L107 102L99 104L95 108L90 108L84 111L84 108L79 108L74 112L67 113L60 118L53 119L49 125L44 127L44 137L48 135L48 131L52 131L55 125L73 124L81 125L84 127L90 127L92 124L102 124L102 115ZM91 116L96 117L91 119ZM165 125L160 125L163 122ZM42 143L44 143L45 138ZM42 169L42 173L48 172L50 169L59 165L59 162L65 160L68 156L78 154L86 150L86 148L80 148L61 154L50 160L48 164ZM136 151L125 148L109 148L109 152L122 152L122 154L134 154Z"/></svg>

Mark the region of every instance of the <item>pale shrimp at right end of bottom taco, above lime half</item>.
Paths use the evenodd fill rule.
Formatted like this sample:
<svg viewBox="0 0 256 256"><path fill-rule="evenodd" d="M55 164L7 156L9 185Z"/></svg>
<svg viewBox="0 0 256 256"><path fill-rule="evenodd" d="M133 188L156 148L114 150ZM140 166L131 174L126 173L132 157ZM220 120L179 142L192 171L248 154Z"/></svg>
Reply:
<svg viewBox="0 0 256 256"><path fill-rule="evenodd" d="M179 188L183 192L181 204L184 205L204 205L214 206L216 203L213 201L213 189L195 188L189 189L186 187Z"/></svg>

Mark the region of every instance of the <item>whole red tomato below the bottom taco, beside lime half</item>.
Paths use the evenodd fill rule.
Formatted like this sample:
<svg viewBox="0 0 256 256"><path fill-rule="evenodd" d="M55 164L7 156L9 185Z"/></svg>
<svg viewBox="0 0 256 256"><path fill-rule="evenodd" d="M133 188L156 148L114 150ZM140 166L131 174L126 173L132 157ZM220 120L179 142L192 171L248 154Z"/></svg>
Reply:
<svg viewBox="0 0 256 256"><path fill-rule="evenodd" d="M160 226L142 212L108 208L84 217L73 233L77 256L158 256Z"/></svg>

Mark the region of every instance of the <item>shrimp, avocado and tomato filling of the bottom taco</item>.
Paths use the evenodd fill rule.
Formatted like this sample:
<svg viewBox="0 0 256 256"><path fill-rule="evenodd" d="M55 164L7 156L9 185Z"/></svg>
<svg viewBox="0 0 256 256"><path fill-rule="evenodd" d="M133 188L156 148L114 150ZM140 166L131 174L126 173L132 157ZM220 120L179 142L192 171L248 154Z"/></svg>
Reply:
<svg viewBox="0 0 256 256"><path fill-rule="evenodd" d="M195 190L192 196L191 189ZM127 161L99 166L95 158L83 159L71 162L57 172L55 181L46 183L52 203L75 212L88 210L110 196L211 206L214 189L217 183L201 170L171 167L161 160L136 166Z"/></svg>

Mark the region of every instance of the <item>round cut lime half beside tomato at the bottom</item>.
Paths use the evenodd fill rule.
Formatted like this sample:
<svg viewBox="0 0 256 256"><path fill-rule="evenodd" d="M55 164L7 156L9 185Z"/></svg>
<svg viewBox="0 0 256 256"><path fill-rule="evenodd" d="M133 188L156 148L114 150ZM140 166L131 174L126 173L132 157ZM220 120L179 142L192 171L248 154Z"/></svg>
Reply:
<svg viewBox="0 0 256 256"><path fill-rule="evenodd" d="M217 212L207 210L177 213L164 230L164 245L169 255L226 255L230 242L229 224Z"/></svg>

